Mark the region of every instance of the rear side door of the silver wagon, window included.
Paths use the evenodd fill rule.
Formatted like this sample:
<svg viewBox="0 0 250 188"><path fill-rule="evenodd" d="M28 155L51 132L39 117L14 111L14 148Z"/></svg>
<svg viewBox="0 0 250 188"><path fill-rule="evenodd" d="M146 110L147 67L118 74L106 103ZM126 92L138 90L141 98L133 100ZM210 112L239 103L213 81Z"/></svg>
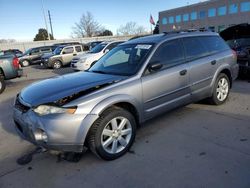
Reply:
<svg viewBox="0 0 250 188"><path fill-rule="evenodd" d="M193 100L204 98L210 92L216 59L210 55L202 37L183 38L186 59L190 67L190 89Z"/></svg>

